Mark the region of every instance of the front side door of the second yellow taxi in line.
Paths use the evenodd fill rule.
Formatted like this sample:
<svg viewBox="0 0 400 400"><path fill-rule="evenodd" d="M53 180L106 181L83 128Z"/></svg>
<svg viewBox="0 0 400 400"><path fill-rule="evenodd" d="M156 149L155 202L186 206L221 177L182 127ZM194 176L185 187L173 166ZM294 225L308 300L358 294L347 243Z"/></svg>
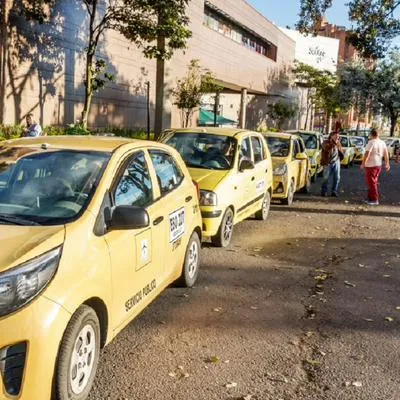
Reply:
<svg viewBox="0 0 400 400"><path fill-rule="evenodd" d="M237 165L238 172L234 181L235 201L233 202L236 208L237 216L240 216L246 212L252 199L255 197L255 169L246 169L244 171L240 171L239 167L242 159L247 159L254 162L250 136L244 137L241 141L239 141L239 157ZM236 219L237 218L235 216L235 220Z"/></svg>

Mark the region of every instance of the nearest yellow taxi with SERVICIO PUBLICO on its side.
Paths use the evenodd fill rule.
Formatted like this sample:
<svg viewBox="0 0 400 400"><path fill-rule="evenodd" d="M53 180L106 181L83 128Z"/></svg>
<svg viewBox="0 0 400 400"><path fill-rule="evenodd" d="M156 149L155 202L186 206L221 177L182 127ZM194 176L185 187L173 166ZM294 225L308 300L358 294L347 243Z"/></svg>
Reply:
<svg viewBox="0 0 400 400"><path fill-rule="evenodd" d="M199 271L197 188L155 142L0 146L0 397L86 399L100 348Z"/></svg>

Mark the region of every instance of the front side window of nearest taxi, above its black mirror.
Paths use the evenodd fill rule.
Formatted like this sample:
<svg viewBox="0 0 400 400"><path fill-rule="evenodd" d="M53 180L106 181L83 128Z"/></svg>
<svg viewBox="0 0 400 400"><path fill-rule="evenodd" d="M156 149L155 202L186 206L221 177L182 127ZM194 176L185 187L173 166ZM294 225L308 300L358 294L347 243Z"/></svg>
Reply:
<svg viewBox="0 0 400 400"><path fill-rule="evenodd" d="M114 194L116 206L146 207L153 201L153 188L144 153L135 154L122 173Z"/></svg>

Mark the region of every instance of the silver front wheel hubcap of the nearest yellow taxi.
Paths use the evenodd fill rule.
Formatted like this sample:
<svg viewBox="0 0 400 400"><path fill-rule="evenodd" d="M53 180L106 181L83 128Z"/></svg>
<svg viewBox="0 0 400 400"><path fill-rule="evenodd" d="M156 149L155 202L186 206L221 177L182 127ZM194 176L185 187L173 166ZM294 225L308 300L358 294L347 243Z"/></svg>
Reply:
<svg viewBox="0 0 400 400"><path fill-rule="evenodd" d="M70 383L76 394L81 394L92 374L96 354L96 334L91 325L85 325L78 334L71 357Z"/></svg>

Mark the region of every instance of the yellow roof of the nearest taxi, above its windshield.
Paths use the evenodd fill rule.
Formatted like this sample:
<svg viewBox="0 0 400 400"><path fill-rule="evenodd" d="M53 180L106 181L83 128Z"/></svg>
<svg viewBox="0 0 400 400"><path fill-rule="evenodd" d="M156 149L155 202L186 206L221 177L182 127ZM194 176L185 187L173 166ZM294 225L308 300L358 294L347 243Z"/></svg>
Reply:
<svg viewBox="0 0 400 400"><path fill-rule="evenodd" d="M127 139L110 136L40 136L32 138L20 138L0 142L0 147L41 147L47 145L54 149L71 150L94 150L113 152L119 147L132 144L134 147L148 146L149 142L145 140Z"/></svg>

